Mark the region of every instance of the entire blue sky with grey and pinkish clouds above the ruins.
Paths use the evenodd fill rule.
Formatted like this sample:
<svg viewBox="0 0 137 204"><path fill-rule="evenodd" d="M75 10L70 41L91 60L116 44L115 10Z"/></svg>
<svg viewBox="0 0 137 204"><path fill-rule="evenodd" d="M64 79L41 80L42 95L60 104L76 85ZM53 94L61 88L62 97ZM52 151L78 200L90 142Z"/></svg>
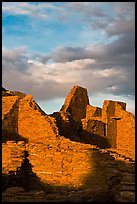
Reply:
<svg viewBox="0 0 137 204"><path fill-rule="evenodd" d="M74 85L91 105L135 109L134 2L3 2L2 84L58 111Z"/></svg>

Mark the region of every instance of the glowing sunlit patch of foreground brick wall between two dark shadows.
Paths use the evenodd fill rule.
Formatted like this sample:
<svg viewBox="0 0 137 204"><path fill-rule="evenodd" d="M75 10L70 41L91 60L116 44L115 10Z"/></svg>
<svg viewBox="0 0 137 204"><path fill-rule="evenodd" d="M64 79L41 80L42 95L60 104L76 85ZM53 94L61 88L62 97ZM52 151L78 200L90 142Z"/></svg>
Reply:
<svg viewBox="0 0 137 204"><path fill-rule="evenodd" d="M72 142L63 137L54 146L44 143L27 146L32 170L42 182L73 187L81 186L82 179L92 170L88 148L88 144Z"/></svg>

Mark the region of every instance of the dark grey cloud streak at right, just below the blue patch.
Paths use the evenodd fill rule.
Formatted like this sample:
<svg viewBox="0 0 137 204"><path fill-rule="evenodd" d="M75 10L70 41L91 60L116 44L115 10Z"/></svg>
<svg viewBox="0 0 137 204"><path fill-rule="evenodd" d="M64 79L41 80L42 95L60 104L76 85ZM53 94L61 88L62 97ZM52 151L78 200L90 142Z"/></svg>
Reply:
<svg viewBox="0 0 137 204"><path fill-rule="evenodd" d="M117 40L89 47L59 47L51 53L55 62L71 62L80 59L95 60L94 68L106 69L124 67L134 69L135 41L131 35L123 35ZM91 66L87 66L87 69ZM93 68L93 66L92 66Z"/></svg>

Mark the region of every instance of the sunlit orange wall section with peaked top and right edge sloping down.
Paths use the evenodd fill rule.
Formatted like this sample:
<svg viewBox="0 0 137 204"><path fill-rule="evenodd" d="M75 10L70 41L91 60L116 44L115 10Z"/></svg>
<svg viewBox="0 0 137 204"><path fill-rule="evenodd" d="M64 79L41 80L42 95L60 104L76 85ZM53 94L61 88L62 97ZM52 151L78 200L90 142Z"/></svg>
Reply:
<svg viewBox="0 0 137 204"><path fill-rule="evenodd" d="M19 101L18 132L29 141L52 139L57 136L55 119L43 113L27 95Z"/></svg>

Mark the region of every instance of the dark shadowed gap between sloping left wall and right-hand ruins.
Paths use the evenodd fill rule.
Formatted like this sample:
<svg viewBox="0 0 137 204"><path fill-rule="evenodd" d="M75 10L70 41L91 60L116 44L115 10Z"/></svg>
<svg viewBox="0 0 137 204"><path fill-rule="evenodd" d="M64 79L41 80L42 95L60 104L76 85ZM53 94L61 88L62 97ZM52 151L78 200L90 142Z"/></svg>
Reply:
<svg viewBox="0 0 137 204"><path fill-rule="evenodd" d="M74 120L70 114L64 112L55 112L53 114L50 114L50 116L56 119L59 134L61 136L69 138L72 141L97 145L100 148L110 147L106 136L92 134L87 130L83 130L82 122Z"/></svg>

